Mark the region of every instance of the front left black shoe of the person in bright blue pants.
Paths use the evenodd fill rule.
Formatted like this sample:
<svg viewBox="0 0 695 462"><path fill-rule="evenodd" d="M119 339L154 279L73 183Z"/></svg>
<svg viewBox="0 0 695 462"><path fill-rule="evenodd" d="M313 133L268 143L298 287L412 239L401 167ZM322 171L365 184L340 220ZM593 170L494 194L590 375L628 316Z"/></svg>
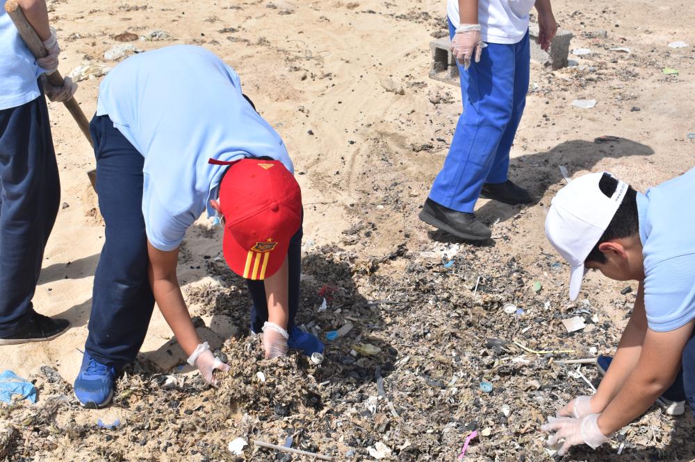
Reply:
<svg viewBox="0 0 695 462"><path fill-rule="evenodd" d="M484 241L492 235L490 228L475 218L475 214L457 212L457 210L439 205L430 198L425 200L425 206L420 210L418 216L420 216L420 220L434 226L434 228L461 239Z"/></svg>

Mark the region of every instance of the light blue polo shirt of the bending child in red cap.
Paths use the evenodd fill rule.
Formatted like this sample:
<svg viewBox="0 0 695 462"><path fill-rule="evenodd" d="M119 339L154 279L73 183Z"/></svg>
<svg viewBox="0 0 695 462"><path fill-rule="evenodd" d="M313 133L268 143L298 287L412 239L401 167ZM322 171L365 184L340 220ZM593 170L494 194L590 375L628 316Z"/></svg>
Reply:
<svg viewBox="0 0 695 462"><path fill-rule="evenodd" d="M293 171L280 136L246 101L239 76L216 55L174 45L133 55L99 85L97 115L145 157L147 239L174 250L209 201L226 166L208 159L268 156Z"/></svg>

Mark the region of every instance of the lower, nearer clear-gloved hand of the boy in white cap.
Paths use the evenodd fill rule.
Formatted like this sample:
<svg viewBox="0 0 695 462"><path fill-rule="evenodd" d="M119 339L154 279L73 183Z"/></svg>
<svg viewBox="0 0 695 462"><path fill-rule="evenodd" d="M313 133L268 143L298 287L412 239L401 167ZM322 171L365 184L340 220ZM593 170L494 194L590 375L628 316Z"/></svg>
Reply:
<svg viewBox="0 0 695 462"><path fill-rule="evenodd" d="M554 446L559 440L564 440L564 444L557 451L559 456L564 456L570 447L582 443L596 449L610 438L598 429L598 416L600 414L589 414L582 418L549 417L548 423L541 425L541 430L554 432L548 437L546 444Z"/></svg>

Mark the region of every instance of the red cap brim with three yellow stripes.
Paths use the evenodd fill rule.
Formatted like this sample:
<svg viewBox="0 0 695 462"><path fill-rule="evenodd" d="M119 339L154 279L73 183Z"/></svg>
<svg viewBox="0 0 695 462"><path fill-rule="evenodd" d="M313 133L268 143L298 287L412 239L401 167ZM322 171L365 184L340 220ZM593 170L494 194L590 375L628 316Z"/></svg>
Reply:
<svg viewBox="0 0 695 462"><path fill-rule="evenodd" d="M261 243L263 244L263 243ZM224 229L222 252L231 271L245 279L261 281L277 273L287 257L290 241L278 241L272 250L256 252L242 247L227 228Z"/></svg>

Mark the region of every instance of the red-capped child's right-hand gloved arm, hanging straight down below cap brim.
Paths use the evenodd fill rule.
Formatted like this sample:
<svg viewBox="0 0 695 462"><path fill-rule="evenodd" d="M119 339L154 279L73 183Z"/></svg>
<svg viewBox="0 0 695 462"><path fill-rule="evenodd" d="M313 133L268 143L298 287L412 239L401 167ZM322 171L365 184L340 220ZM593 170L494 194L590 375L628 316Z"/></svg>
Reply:
<svg viewBox="0 0 695 462"><path fill-rule="evenodd" d="M282 356L287 352L288 281L289 270L286 257L277 273L263 280L268 302L268 323L263 327L263 348L267 358Z"/></svg>

